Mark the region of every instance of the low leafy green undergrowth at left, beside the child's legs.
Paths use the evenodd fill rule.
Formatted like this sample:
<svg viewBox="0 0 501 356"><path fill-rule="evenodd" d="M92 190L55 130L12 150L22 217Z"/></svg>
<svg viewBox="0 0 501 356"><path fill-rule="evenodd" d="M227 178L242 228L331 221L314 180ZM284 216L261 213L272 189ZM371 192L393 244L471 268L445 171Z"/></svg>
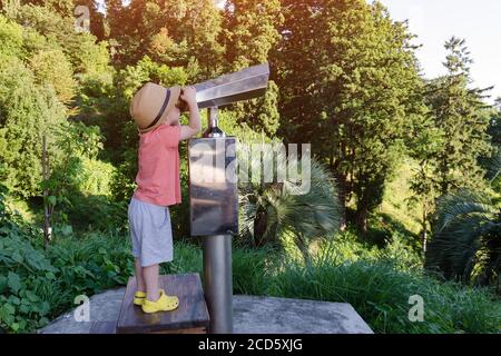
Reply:
<svg viewBox="0 0 501 356"><path fill-rule="evenodd" d="M0 329L30 332L67 310L77 295L122 285L132 271L128 239L59 238L43 249L41 231L4 205L0 184Z"/></svg>

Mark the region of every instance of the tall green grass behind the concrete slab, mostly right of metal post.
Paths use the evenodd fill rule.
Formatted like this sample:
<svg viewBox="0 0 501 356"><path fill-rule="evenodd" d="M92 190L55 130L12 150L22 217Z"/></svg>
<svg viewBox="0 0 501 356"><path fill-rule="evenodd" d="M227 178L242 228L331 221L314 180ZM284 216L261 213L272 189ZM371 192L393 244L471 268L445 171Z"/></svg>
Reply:
<svg viewBox="0 0 501 356"><path fill-rule="evenodd" d="M412 254L363 249L344 240L324 244L310 263L264 249L234 248L235 294L350 303L375 333L497 333L501 301L488 289L441 283L425 275ZM353 251L350 251L350 246ZM200 251L185 243L180 254ZM197 258L198 258L197 257ZM177 259L177 257L176 257ZM180 257L178 270L199 270L199 260ZM411 296L424 301L423 322L411 322Z"/></svg>

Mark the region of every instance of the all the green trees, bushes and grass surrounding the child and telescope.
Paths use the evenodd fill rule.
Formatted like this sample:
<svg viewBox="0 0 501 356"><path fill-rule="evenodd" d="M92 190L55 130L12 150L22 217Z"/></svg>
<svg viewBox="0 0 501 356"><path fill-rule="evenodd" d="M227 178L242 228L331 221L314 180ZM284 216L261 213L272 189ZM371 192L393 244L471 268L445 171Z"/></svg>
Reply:
<svg viewBox="0 0 501 356"><path fill-rule="evenodd" d="M312 189L240 184L236 293L348 301L376 332L495 332L491 294L435 278L500 280L501 99L472 86L464 40L448 40L445 75L424 79L414 34L377 1L104 4L0 0L2 329L33 330L130 275L135 91L269 61L266 95L222 110L220 127L242 144L312 144ZM189 236L186 145L180 155L176 240ZM176 248L166 271L202 268L198 247ZM426 323L406 319L409 294L430 304Z"/></svg>

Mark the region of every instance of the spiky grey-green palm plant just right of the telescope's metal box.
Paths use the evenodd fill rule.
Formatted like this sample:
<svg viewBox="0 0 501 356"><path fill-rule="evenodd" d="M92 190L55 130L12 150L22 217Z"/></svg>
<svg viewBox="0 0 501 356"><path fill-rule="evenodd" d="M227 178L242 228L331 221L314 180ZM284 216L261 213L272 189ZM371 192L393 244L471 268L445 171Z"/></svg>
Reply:
<svg viewBox="0 0 501 356"><path fill-rule="evenodd" d="M248 167L262 167L263 162L273 160L275 177L278 169L286 169L291 162L275 157L273 150L263 150L263 157L250 154L249 147L244 146L239 161L246 160ZM266 182L264 175L254 179L240 170L240 236L247 237L254 247L281 246L283 238L291 236L307 259L307 247L313 239L333 236L337 230L342 209L334 179L315 159L310 166L310 190L305 194L289 176L284 181Z"/></svg>

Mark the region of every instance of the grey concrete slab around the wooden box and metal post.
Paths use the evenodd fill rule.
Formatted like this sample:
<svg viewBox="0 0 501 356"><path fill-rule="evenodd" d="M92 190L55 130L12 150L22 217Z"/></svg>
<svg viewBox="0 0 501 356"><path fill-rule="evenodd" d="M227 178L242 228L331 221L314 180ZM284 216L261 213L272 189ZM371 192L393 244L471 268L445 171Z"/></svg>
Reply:
<svg viewBox="0 0 501 356"><path fill-rule="evenodd" d="M76 322L73 312L55 319L40 334L90 334L96 323L118 320L125 288L90 298L90 322ZM236 295L235 334L373 334L350 304Z"/></svg>

